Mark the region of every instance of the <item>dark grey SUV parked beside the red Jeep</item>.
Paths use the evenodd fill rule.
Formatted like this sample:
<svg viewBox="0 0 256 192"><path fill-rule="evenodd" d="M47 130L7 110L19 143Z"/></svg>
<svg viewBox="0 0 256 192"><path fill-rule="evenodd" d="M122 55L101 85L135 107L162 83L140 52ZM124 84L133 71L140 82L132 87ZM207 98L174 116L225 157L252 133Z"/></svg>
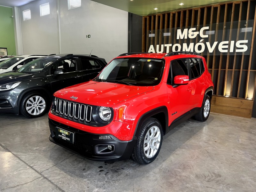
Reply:
<svg viewBox="0 0 256 192"><path fill-rule="evenodd" d="M106 65L95 55L58 54L0 74L0 112L42 116L54 92L93 79Z"/></svg>

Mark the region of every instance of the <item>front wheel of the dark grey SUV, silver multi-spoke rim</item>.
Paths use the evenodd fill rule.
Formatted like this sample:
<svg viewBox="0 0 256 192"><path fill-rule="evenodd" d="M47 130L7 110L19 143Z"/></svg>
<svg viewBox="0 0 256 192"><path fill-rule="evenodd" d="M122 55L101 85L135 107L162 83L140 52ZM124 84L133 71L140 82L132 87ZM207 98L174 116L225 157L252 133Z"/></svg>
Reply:
<svg viewBox="0 0 256 192"><path fill-rule="evenodd" d="M37 103L36 98L42 98L42 100L38 99L39 102ZM34 101L34 106L33 104L29 104L32 103L30 102L32 100ZM45 105L43 105L44 103ZM43 116L47 109L48 100L43 94L38 92L28 93L24 95L22 97L22 100L20 101L20 113L28 118L36 118ZM32 111L30 112L30 110Z"/></svg>

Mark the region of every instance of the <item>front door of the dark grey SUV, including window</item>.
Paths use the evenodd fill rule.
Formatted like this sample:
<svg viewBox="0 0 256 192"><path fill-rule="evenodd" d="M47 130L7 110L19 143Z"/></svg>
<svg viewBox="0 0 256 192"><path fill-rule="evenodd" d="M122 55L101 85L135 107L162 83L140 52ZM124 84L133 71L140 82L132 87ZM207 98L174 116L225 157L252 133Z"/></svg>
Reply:
<svg viewBox="0 0 256 192"><path fill-rule="evenodd" d="M52 92L83 82L78 71L77 60L73 58L60 60L52 65L47 78L51 82Z"/></svg>

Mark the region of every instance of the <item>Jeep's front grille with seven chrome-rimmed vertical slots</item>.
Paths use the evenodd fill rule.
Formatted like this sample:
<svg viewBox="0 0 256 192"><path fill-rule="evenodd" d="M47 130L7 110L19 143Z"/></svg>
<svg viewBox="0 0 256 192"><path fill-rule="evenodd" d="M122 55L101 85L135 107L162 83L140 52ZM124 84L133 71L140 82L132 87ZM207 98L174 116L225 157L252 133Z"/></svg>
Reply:
<svg viewBox="0 0 256 192"><path fill-rule="evenodd" d="M57 99L56 113L80 121L91 121L92 106L75 103L73 101Z"/></svg>

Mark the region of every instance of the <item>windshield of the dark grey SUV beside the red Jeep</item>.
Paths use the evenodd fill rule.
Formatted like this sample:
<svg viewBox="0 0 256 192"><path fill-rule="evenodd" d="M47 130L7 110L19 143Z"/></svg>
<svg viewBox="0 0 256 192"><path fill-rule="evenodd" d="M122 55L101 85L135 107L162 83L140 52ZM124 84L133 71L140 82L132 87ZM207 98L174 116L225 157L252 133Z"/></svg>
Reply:
<svg viewBox="0 0 256 192"><path fill-rule="evenodd" d="M53 57L40 57L33 61L30 61L26 65L18 69L20 73L37 73L50 65L56 58Z"/></svg>

